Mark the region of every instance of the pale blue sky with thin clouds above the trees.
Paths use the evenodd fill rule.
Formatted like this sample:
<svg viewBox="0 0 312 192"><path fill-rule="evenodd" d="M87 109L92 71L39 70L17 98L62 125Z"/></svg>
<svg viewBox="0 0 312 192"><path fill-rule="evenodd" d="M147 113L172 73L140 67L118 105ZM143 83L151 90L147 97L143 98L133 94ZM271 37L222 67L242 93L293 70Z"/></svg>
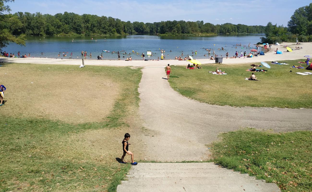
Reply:
<svg viewBox="0 0 312 192"><path fill-rule="evenodd" d="M119 18L122 21L160 22L168 20L204 21L212 24L264 25L272 22L287 26L296 9L311 0L15 0L15 12L51 14L74 12Z"/></svg>

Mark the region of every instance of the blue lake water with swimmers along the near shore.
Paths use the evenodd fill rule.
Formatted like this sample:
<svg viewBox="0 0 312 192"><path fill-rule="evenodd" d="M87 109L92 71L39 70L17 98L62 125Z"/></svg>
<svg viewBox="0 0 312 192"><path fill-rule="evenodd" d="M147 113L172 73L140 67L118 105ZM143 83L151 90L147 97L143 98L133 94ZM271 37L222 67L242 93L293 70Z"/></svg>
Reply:
<svg viewBox="0 0 312 192"><path fill-rule="evenodd" d="M124 50L127 54L121 52L121 59L124 57L132 57L133 60L142 59L142 52L145 53L145 59L160 59L160 50L165 50L166 59L174 59L175 56L179 57L183 53L187 55L194 55L193 58L202 59L209 58L208 52L204 48L213 49L218 56L225 56L229 52L229 56L233 56L236 51L241 54L241 51L250 52L250 48L236 47L236 43L255 48L254 44L260 42L260 37L263 34L248 34L248 35L214 35L214 36L190 36L190 37L158 37L156 35L127 35L127 36L62 36L62 37L26 37L26 46L20 46L11 43L8 47L2 49L9 53L17 55L19 51L21 54L30 53L31 57L50 57L69 58L71 52L73 59L81 59L81 51L87 52L87 59L97 59L98 55L103 54L103 59L117 59L117 51ZM93 40L91 39L93 38ZM224 47L224 51L217 50ZM251 49L253 49L251 48ZM103 52L107 50L110 52ZM135 53L132 51L134 50ZM170 52L171 50L171 52ZM259 49L261 50L261 48ZM111 53L115 51L116 53ZM146 52L152 51L153 56L148 58ZM197 54L192 53L197 51ZM43 54L41 54L43 52ZM66 57L63 57L62 52L68 52ZM90 58L89 54L92 53ZM136 54L139 53L139 55ZM129 53L131 53L129 55ZM204 56L204 55L207 56ZM78 56L78 57L77 57Z"/></svg>

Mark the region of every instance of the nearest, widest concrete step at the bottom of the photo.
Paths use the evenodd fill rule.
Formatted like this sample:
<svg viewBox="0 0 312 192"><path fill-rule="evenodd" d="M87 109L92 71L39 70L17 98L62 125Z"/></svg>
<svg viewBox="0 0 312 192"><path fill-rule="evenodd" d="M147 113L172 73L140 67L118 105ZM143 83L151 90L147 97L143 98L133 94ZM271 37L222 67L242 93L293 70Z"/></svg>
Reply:
<svg viewBox="0 0 312 192"><path fill-rule="evenodd" d="M199 184L199 185L182 185L182 184L144 184L144 185L118 185L117 191L128 191L131 189L131 192L280 192L277 185L274 183L265 183L265 184L255 184L255 183L246 183L241 184Z"/></svg>

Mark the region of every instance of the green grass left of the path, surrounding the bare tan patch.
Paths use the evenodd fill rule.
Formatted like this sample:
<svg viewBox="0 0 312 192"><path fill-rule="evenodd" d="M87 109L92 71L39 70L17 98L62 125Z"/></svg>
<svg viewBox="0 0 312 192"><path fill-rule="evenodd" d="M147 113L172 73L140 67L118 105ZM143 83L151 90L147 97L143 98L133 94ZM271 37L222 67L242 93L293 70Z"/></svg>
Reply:
<svg viewBox="0 0 312 192"><path fill-rule="evenodd" d="M43 72L75 70L77 66L17 65L21 70L34 67ZM0 129L0 191L115 191L130 165L115 160L114 148L103 148L108 155L94 158L81 145L80 135L86 131L114 130L130 127L129 112L138 108L140 69L129 67L88 66L92 75L106 74L120 85L120 97L103 122L69 124L47 119L1 116ZM51 72L51 71L50 71ZM105 79L104 79L105 80ZM4 84L4 83L3 83ZM11 93L12 94L12 93ZM12 102L12 101L11 101ZM6 104L9 105L9 102ZM2 110L2 108L0 109ZM18 110L18 109L17 109ZM122 139L123 135L116 135ZM100 149L99 149L100 150Z"/></svg>

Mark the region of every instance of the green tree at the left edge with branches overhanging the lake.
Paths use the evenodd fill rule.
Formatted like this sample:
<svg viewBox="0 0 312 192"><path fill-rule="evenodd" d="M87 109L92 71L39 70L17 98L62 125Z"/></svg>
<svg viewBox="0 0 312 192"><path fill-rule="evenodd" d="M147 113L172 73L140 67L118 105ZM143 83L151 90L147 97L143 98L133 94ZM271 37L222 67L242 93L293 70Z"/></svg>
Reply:
<svg viewBox="0 0 312 192"><path fill-rule="evenodd" d="M14 0L0 0L0 50L6 47L10 42L25 45L24 36L15 36L13 32L22 28L22 22L17 15L4 14L10 12L10 7L4 5L5 2L13 2Z"/></svg>

